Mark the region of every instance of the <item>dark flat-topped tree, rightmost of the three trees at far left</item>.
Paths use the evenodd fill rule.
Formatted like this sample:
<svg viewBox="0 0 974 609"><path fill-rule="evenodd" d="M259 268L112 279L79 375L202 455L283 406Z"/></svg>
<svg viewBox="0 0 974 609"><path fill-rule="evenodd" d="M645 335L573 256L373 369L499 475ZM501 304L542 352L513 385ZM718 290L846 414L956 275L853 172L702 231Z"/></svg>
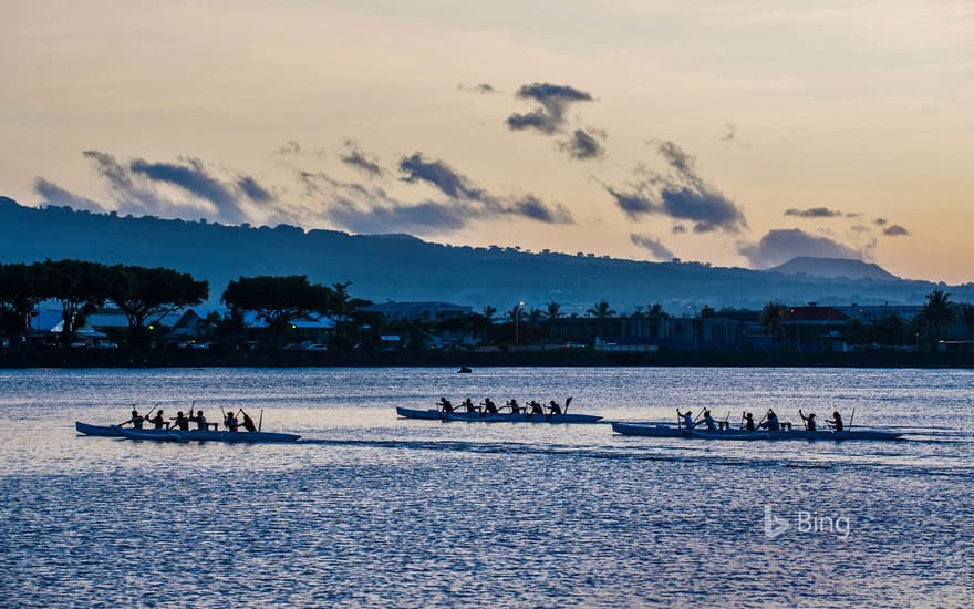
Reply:
<svg viewBox="0 0 974 609"><path fill-rule="evenodd" d="M111 268L107 296L128 320L128 344L148 347L146 321L182 307L199 304L209 296L209 285L187 272L117 265Z"/></svg>

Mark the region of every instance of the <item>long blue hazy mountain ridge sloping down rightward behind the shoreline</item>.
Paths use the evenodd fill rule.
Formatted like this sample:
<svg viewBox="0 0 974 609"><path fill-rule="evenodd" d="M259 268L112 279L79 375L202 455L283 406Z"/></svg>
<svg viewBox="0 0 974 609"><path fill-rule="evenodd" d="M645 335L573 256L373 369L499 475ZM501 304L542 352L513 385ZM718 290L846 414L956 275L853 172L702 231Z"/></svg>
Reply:
<svg viewBox="0 0 974 609"><path fill-rule="evenodd" d="M555 301L563 313L582 317L601 300L619 312L660 302L672 314L695 313L704 304L759 309L770 300L921 303L937 287L895 278L845 279L698 262L455 247L403 235L224 226L68 207L37 209L0 197L0 261L45 258L190 272L210 282L214 306L230 280L255 275L307 275L325 285L351 281L353 296L376 302L446 301L504 311L519 301L529 309L547 309ZM974 301L974 285L949 291L955 301Z"/></svg>

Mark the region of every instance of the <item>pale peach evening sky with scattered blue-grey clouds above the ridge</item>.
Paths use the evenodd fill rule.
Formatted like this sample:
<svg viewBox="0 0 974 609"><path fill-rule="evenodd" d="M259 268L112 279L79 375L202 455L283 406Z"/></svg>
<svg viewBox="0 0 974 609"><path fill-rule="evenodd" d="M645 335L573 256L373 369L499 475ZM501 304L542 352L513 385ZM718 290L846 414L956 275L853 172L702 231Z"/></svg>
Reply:
<svg viewBox="0 0 974 609"><path fill-rule="evenodd" d="M974 2L848 4L7 0L0 195L974 281Z"/></svg>

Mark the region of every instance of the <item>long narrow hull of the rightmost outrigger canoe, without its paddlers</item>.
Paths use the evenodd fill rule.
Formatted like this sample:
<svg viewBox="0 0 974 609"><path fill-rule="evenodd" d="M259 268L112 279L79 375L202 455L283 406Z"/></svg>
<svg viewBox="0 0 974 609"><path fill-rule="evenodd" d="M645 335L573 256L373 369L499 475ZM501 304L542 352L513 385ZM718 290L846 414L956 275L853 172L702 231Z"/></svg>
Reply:
<svg viewBox="0 0 974 609"><path fill-rule="evenodd" d="M649 437L690 437L701 440L897 440L902 434L885 430L687 430L672 423L612 423L612 431L622 435L642 435Z"/></svg>

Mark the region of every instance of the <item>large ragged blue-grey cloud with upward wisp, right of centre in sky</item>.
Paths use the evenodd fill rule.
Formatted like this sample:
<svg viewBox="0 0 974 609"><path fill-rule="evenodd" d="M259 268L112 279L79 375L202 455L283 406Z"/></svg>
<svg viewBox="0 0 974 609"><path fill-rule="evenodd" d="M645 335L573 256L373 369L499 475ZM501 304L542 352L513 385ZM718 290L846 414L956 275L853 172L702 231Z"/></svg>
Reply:
<svg viewBox="0 0 974 609"><path fill-rule="evenodd" d="M696 158L673 142L652 142L670 165L669 174L640 167L628 192L603 184L631 219L657 214L693 223L695 233L739 233L747 227L744 213L696 173Z"/></svg>

